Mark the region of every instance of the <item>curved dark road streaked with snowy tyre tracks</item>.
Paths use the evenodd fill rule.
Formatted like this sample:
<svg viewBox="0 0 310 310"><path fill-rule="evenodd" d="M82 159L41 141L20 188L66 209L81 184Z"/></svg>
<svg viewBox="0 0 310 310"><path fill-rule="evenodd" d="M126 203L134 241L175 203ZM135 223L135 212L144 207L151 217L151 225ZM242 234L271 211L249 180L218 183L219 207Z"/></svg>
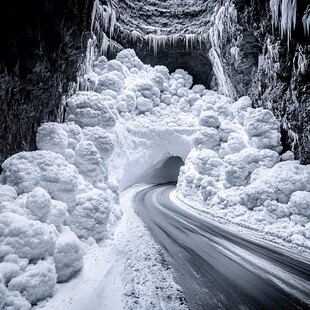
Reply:
<svg viewBox="0 0 310 310"><path fill-rule="evenodd" d="M309 262L178 207L169 199L174 188L141 190L133 204L191 310L310 309Z"/></svg>

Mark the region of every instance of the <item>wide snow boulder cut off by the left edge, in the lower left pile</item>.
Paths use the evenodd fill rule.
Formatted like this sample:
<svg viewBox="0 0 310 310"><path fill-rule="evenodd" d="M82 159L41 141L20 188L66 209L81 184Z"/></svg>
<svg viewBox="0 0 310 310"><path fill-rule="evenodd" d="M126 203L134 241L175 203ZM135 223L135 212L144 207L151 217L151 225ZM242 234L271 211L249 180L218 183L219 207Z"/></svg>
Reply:
<svg viewBox="0 0 310 310"><path fill-rule="evenodd" d="M39 221L10 212L0 216L0 257L17 254L20 258L40 259L53 255L56 230Z"/></svg>

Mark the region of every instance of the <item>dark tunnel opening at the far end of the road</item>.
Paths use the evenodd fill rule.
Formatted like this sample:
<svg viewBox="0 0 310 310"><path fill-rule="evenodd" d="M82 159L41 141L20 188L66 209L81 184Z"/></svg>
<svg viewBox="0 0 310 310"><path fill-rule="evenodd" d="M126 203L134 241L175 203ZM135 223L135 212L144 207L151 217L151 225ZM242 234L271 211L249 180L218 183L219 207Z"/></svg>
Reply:
<svg viewBox="0 0 310 310"><path fill-rule="evenodd" d="M184 161L179 156L165 158L157 162L141 181L148 184L176 183L182 166Z"/></svg>

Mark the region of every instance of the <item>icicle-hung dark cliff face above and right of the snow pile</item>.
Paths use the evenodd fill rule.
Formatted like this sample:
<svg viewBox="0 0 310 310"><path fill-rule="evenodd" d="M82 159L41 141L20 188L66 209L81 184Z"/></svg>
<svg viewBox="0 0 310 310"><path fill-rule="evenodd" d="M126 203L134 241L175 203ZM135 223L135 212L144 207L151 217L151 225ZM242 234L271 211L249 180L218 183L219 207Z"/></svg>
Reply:
<svg viewBox="0 0 310 310"><path fill-rule="evenodd" d="M230 97L251 96L255 106L273 110L281 121L286 149L310 162L308 1L103 4L93 15L102 53L113 57L131 47L144 62L187 70L195 83Z"/></svg>

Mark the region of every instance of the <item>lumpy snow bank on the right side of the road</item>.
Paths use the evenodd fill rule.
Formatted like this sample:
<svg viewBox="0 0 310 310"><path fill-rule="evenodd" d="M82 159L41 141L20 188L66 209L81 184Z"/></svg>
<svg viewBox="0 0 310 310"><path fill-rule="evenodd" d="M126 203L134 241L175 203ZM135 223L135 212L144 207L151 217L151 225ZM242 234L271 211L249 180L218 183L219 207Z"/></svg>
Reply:
<svg viewBox="0 0 310 310"><path fill-rule="evenodd" d="M179 197L219 220L309 247L310 166L291 152L280 156L280 125L271 111L254 109L249 97L226 105L215 98L196 113L207 129L194 135Z"/></svg>

